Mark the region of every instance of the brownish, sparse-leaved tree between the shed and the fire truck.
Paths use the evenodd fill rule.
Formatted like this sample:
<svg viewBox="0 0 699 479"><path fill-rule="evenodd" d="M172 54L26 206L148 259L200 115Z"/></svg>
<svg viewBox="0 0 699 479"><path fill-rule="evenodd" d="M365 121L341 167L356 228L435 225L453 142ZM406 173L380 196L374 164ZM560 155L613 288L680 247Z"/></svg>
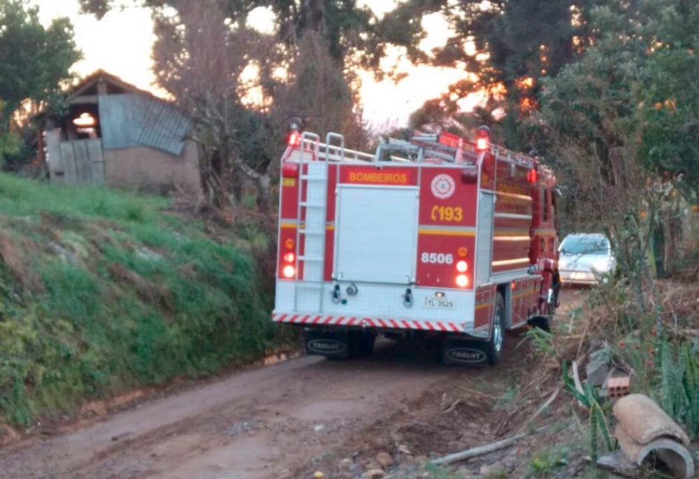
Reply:
<svg viewBox="0 0 699 479"><path fill-rule="evenodd" d="M199 124L194 139L210 204L237 206L248 182L257 188L259 209L271 211L291 115L317 131L349 132L349 141L362 141L353 90L321 34L308 31L291 48L229 22L215 5L187 1L178 8L178 15L157 15L155 73Z"/></svg>

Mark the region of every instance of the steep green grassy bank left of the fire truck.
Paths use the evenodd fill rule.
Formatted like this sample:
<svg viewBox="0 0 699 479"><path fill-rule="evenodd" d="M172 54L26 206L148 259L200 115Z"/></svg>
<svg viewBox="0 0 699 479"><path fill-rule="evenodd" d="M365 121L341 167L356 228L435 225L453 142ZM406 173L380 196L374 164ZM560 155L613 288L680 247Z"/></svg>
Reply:
<svg viewBox="0 0 699 479"><path fill-rule="evenodd" d="M0 174L0 421L31 424L182 374L250 362L271 238L167 213L166 199Z"/></svg>

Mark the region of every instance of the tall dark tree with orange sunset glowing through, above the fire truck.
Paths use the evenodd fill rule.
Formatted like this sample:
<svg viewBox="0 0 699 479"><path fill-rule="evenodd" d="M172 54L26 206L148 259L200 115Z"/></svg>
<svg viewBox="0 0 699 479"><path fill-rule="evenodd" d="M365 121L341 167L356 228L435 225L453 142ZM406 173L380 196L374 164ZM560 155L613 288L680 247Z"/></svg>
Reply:
<svg viewBox="0 0 699 479"><path fill-rule="evenodd" d="M419 20L442 14L452 29L446 45L431 52L431 56L416 54L410 48L408 55L414 62L463 69L475 77L455 83L447 94L425 108L432 111L433 118L454 117L461 99L484 92L486 104L477 116L489 124L498 141L522 150L533 145L518 127L524 117L539 108L542 78L556 76L563 66L582 55L596 35L589 17L597 3L606 2L410 0L394 15L387 16L380 29L386 38L410 47L424 36ZM391 34L401 31L396 17L417 19L413 22L416 26L403 29L405 33L401 35ZM498 128L493 128L496 125L500 127L500 138Z"/></svg>

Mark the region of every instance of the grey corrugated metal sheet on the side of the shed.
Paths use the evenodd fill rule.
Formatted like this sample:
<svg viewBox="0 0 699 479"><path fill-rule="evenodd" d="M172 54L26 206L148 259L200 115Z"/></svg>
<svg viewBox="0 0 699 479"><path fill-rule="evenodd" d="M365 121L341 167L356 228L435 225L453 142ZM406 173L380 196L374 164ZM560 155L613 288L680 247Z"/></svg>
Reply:
<svg viewBox="0 0 699 479"><path fill-rule="evenodd" d="M192 120L171 105L142 94L99 95L105 150L150 146L181 155Z"/></svg>

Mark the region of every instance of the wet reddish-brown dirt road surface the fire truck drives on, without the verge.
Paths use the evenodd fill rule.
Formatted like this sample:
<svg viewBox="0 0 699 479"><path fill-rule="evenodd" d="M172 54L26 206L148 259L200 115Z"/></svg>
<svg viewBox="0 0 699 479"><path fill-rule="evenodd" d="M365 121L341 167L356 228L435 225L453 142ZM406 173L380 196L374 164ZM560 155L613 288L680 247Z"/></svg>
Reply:
<svg viewBox="0 0 699 479"><path fill-rule="evenodd" d="M563 302L577 302L575 292ZM366 359L302 357L238 373L70 434L6 446L0 478L279 478L426 391L505 377L521 366L514 343L497 369L440 366L436 351L383 343Z"/></svg>

